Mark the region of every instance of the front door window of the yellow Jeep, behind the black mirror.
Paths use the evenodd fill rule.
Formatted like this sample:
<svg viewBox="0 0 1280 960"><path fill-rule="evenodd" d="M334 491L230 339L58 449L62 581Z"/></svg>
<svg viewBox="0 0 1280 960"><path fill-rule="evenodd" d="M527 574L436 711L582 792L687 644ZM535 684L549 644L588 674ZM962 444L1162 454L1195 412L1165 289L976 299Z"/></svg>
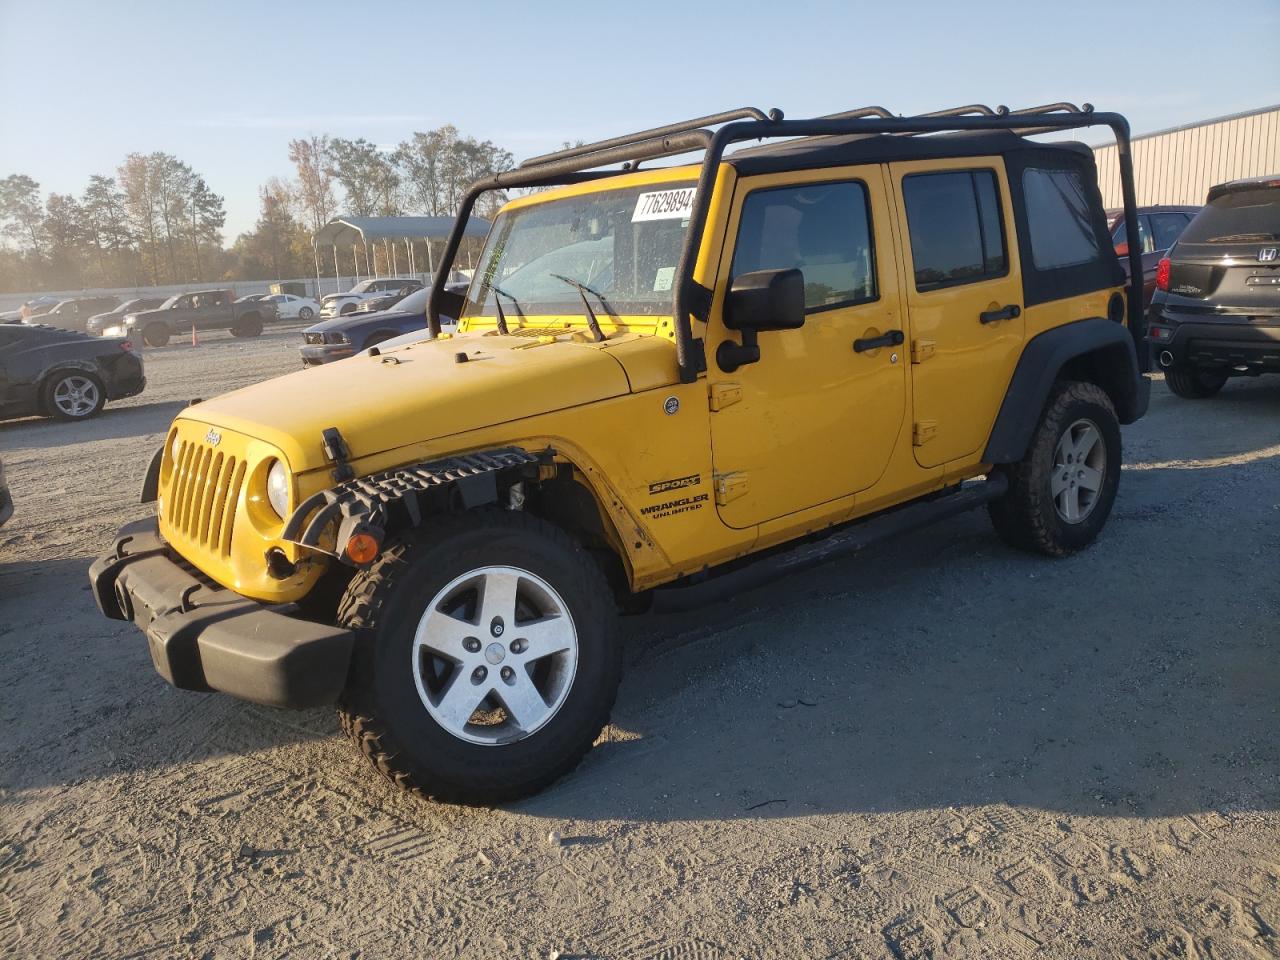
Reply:
<svg viewBox="0 0 1280 960"><path fill-rule="evenodd" d="M879 296L864 183L813 183L748 195L731 275L792 268L804 274L809 312Z"/></svg>

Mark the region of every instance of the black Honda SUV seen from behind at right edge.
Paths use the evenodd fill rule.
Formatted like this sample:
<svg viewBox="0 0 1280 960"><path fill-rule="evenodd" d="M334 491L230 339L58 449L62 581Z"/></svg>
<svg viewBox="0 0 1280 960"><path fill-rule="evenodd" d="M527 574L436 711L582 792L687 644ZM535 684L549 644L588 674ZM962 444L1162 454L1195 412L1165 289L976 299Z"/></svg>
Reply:
<svg viewBox="0 0 1280 960"><path fill-rule="evenodd" d="M1169 389L1188 399L1280 372L1280 177L1210 189L1156 269L1147 339Z"/></svg>

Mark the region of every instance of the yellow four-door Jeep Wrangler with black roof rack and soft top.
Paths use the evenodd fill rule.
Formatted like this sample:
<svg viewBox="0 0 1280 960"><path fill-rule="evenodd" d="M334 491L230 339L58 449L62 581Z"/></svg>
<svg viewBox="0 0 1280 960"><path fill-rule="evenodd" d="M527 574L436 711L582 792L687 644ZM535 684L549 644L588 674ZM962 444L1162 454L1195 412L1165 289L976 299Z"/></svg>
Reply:
<svg viewBox="0 0 1280 960"><path fill-rule="evenodd" d="M494 803L582 758L655 588L975 506L1078 550L1147 406L1142 266L1089 150L1028 137L1097 124L1140 251L1088 105L732 110L476 183L426 337L183 411L97 603L173 685L337 701L394 782Z"/></svg>

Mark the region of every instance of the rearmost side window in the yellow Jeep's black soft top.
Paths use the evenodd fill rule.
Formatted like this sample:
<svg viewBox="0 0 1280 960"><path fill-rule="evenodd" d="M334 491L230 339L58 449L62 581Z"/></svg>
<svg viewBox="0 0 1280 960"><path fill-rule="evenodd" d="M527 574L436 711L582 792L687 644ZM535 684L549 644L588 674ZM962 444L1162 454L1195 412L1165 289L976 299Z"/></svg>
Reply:
<svg viewBox="0 0 1280 960"><path fill-rule="evenodd" d="M1023 172L1023 195L1037 270L1097 260L1093 214L1079 173L1028 168Z"/></svg>

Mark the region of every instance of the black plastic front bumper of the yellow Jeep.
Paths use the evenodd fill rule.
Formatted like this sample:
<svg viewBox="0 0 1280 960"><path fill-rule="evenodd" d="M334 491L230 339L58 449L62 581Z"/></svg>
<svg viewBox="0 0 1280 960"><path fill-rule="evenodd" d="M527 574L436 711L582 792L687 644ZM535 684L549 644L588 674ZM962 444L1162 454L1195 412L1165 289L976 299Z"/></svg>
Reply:
<svg viewBox="0 0 1280 960"><path fill-rule="evenodd" d="M154 520L120 529L88 570L111 620L146 635L156 671L182 690L219 690L271 707L333 703L347 682L349 630L289 616L197 579L160 539Z"/></svg>

